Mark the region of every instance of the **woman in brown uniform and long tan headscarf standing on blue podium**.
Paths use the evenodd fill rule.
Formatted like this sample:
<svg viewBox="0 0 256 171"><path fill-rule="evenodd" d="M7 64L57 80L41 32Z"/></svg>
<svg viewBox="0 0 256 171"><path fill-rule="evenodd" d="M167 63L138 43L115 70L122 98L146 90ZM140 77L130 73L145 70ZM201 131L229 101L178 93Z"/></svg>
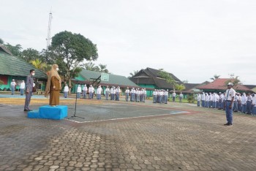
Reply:
<svg viewBox="0 0 256 171"><path fill-rule="evenodd" d="M45 89L45 96L50 94L50 106L59 105L59 92L61 91L61 77L58 74L59 66L53 64L50 72L48 72L48 82Z"/></svg>

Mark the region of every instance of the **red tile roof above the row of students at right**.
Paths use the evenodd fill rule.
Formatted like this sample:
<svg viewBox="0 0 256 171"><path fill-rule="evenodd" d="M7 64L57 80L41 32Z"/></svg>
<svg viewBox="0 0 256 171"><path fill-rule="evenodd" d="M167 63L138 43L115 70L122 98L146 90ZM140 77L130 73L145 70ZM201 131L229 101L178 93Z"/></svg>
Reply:
<svg viewBox="0 0 256 171"><path fill-rule="evenodd" d="M233 80L230 78L217 78L211 83L208 83L203 86L198 86L198 89L205 90L226 90L227 89L227 81L230 80L232 82ZM236 91L252 91L251 89L247 88L244 85L238 85L233 87Z"/></svg>

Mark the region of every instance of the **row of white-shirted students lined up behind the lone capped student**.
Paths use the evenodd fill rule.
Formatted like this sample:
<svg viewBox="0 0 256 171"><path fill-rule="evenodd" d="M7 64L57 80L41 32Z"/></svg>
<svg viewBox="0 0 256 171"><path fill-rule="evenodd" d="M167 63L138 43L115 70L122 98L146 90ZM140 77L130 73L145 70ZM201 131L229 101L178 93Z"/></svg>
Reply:
<svg viewBox="0 0 256 171"><path fill-rule="evenodd" d="M197 106L217 108L225 110L227 95L225 93L204 93L197 94ZM249 115L256 115L256 95L236 93L233 99L233 112L241 112Z"/></svg>

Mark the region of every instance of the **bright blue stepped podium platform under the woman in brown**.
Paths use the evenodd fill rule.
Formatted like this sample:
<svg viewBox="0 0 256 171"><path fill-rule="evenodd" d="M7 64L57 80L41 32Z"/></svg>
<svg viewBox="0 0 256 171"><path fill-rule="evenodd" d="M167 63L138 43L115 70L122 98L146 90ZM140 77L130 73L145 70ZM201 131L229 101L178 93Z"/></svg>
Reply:
<svg viewBox="0 0 256 171"><path fill-rule="evenodd" d="M61 120L65 117L67 117L67 106L64 105L59 105L56 107L45 105L39 107L39 110L33 110L28 113L28 118Z"/></svg>

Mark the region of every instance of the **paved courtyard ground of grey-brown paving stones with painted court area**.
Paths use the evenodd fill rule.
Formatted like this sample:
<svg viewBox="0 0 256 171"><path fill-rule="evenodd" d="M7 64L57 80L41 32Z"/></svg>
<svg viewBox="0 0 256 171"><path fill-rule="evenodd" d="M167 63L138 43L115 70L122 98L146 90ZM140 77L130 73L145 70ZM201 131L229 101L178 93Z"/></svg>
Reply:
<svg viewBox="0 0 256 171"><path fill-rule="evenodd" d="M256 170L250 115L235 113L233 126L223 126L225 111L194 104L80 99L78 114L89 122L77 123L29 119L13 101L0 99L0 170Z"/></svg>

